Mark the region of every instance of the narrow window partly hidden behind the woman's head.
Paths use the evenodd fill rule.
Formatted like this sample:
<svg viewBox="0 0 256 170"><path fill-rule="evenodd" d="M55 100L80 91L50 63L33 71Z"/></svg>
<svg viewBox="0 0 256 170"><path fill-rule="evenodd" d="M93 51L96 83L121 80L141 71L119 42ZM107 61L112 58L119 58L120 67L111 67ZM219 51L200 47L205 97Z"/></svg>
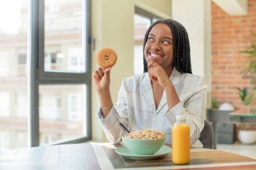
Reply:
<svg viewBox="0 0 256 170"><path fill-rule="evenodd" d="M133 64L134 64L134 75L139 75L143 73L143 40L146 34L146 31L150 25L156 20L161 19L160 17L135 7L134 15L134 55L133 55Z"/></svg>

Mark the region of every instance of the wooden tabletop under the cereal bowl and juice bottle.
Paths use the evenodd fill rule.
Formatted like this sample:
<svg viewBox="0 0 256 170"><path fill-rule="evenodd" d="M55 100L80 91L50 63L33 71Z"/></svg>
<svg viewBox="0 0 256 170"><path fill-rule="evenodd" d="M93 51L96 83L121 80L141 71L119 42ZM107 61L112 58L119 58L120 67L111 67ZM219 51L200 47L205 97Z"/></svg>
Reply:
<svg viewBox="0 0 256 170"><path fill-rule="evenodd" d="M20 148L0 155L0 169L256 169L256 159L207 148L191 148L189 165L173 165L172 154L152 160L119 156L109 143Z"/></svg>

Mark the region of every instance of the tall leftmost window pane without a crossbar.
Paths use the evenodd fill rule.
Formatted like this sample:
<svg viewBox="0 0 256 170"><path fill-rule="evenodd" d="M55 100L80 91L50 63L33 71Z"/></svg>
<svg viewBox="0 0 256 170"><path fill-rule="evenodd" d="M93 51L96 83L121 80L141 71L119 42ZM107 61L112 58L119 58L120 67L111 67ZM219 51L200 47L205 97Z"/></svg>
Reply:
<svg viewBox="0 0 256 170"><path fill-rule="evenodd" d="M28 1L0 1L0 153L28 146L27 30Z"/></svg>

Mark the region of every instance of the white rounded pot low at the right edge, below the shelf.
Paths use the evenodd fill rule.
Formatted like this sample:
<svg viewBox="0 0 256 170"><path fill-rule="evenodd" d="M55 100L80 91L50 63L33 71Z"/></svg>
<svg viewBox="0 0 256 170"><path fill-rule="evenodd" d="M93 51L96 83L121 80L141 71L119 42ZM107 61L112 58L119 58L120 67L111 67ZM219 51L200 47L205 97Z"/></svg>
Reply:
<svg viewBox="0 0 256 170"><path fill-rule="evenodd" d="M256 142L256 130L239 130L238 139L243 144L254 144Z"/></svg>

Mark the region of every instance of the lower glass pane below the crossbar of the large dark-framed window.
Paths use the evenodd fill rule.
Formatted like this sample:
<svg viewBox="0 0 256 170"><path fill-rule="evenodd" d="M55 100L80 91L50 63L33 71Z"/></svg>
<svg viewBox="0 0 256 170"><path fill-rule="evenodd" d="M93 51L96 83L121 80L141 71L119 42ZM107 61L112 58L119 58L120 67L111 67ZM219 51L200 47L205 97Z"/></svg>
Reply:
<svg viewBox="0 0 256 170"><path fill-rule="evenodd" d="M39 86L40 145L86 136L86 86Z"/></svg>

